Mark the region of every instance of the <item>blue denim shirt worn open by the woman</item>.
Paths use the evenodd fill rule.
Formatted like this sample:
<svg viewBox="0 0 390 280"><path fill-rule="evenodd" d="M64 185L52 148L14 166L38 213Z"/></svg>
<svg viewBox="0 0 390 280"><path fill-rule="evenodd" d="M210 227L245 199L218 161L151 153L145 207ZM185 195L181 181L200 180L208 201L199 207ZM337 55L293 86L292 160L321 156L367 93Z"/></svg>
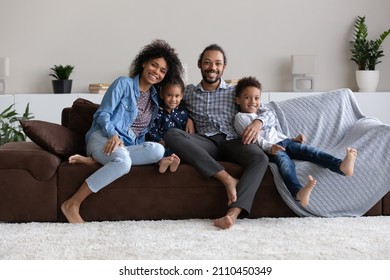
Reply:
<svg viewBox="0 0 390 280"><path fill-rule="evenodd" d="M138 114L137 99L141 94L139 75L134 78L119 77L116 79L107 89L100 107L93 115L92 126L85 136L86 142L97 130L101 130L107 138L119 135L125 146L144 142L145 134L150 130L158 112L157 91L153 86L150 88L150 93L154 105L152 118L148 126L137 137L131 126Z"/></svg>

